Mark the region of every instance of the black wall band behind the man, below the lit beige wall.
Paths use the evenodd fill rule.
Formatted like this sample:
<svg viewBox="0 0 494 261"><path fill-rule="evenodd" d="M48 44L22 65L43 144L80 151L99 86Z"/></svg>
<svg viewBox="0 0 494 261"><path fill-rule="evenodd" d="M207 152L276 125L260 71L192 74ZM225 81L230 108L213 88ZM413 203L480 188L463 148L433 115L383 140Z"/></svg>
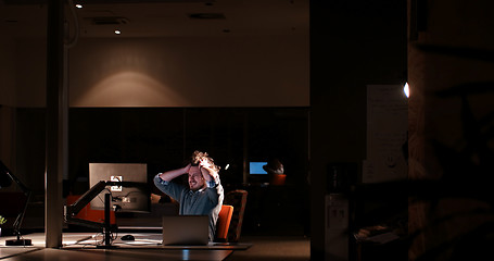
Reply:
<svg viewBox="0 0 494 261"><path fill-rule="evenodd" d="M74 108L69 112L69 176L88 177L89 162L148 163L149 177L183 166L193 150L208 152L224 184L243 183L248 161L279 158L288 181L303 182L308 169L306 108L163 109ZM251 182L250 179L246 181Z"/></svg>

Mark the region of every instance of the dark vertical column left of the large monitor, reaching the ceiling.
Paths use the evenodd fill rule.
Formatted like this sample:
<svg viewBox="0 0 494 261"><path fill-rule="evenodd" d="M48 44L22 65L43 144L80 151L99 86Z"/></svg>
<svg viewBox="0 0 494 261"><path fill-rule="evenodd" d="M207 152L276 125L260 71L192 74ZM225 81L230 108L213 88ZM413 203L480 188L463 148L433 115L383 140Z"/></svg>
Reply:
<svg viewBox="0 0 494 261"><path fill-rule="evenodd" d="M45 229L46 247L62 246L63 202L62 176L64 139L63 112L63 1L48 2L48 32L47 32L47 145L45 173ZM66 141L66 140L65 140Z"/></svg>

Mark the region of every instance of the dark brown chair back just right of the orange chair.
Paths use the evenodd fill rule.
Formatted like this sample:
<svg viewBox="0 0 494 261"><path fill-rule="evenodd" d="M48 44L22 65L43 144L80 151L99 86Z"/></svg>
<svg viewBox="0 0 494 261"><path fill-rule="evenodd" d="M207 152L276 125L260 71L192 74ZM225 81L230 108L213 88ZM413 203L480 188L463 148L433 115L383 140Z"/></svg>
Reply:
<svg viewBox="0 0 494 261"><path fill-rule="evenodd" d="M243 214L245 212L248 191L236 189L225 195L224 202L233 206L230 228L228 229L228 241L238 241L242 231Z"/></svg>

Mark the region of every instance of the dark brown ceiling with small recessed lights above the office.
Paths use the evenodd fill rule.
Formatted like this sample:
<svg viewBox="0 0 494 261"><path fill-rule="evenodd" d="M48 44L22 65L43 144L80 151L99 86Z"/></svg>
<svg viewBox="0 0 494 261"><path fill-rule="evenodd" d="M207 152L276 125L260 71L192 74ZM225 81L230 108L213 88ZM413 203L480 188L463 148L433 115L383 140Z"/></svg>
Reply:
<svg viewBox="0 0 494 261"><path fill-rule="evenodd" d="M65 20L71 35L78 32L81 38L308 35L309 0L73 1L83 9L66 4ZM0 0L2 35L46 36L45 2ZM115 29L122 34L115 35Z"/></svg>

